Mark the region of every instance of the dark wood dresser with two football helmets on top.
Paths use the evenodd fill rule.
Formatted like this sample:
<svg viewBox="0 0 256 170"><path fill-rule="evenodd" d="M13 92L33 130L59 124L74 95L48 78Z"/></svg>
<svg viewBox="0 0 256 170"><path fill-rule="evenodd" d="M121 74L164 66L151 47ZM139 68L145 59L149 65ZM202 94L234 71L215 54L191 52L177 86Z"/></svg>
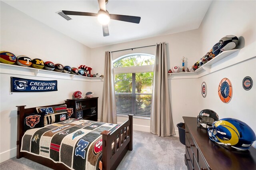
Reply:
<svg viewBox="0 0 256 170"><path fill-rule="evenodd" d="M196 117L183 117L188 170L256 170L256 149L238 151L213 143L206 129L197 127Z"/></svg>

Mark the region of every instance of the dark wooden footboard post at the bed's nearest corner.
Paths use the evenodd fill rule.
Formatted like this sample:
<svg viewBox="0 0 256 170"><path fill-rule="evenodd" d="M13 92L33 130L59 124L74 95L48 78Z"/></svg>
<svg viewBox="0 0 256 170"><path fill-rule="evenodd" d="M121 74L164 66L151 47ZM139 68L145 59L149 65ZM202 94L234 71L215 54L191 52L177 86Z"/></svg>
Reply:
<svg viewBox="0 0 256 170"><path fill-rule="evenodd" d="M100 134L102 134L102 169L103 170L110 170L110 158L112 156L111 153L111 146L112 141L108 140L108 136L110 136L111 131L104 130ZM109 147L110 146L110 147Z"/></svg>

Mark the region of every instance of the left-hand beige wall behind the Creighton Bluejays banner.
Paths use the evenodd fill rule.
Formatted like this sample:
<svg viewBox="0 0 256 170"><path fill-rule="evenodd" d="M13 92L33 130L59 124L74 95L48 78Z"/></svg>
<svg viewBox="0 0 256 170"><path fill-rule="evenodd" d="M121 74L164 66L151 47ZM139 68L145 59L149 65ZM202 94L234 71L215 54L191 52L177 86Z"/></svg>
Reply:
<svg viewBox="0 0 256 170"><path fill-rule="evenodd" d="M77 67L90 62L90 48L28 17L24 13L1 3L0 51L11 51L16 56L28 55L31 59L40 58L63 65ZM35 77L29 71L20 72L12 67L10 74L0 73L0 162L16 156L17 105L36 107L64 103L72 98L74 91L86 92L89 82ZM20 74L21 75L16 75ZM10 93L10 77L36 80L57 80L58 91L38 93Z"/></svg>

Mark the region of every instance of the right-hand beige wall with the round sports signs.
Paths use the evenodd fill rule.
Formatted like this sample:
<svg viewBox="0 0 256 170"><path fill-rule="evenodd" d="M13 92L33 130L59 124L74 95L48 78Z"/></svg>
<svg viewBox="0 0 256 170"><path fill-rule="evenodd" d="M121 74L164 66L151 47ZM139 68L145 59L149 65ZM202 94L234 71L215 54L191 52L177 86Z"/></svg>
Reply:
<svg viewBox="0 0 256 170"><path fill-rule="evenodd" d="M206 82L207 96L200 96L200 105L218 113L220 119L231 117L247 123L256 132L256 86L245 91L242 80L250 76L256 81L256 1L213 1L200 28L203 42L200 54L226 35L238 37L242 49L216 63L212 74L198 79L198 93L201 83ZM230 79L233 87L232 99L223 103L218 97L218 85L222 78ZM256 147L256 142L254 142Z"/></svg>

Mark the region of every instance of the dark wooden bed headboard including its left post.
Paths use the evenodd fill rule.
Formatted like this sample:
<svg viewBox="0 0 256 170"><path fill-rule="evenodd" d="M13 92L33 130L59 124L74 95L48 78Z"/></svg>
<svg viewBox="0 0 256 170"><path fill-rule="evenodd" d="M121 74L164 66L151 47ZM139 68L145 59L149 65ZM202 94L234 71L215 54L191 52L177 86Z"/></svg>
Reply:
<svg viewBox="0 0 256 170"><path fill-rule="evenodd" d="M50 107L50 106L60 106L60 105L65 105L65 103L57 104L57 105L48 105L48 106L38 106L38 107ZM17 109L17 158L22 157L22 152L20 152L21 148L21 141L22 141L22 136L24 135L24 116L31 114L31 113L37 113L36 107L31 107L25 109L26 105L22 106L16 106L18 107Z"/></svg>

